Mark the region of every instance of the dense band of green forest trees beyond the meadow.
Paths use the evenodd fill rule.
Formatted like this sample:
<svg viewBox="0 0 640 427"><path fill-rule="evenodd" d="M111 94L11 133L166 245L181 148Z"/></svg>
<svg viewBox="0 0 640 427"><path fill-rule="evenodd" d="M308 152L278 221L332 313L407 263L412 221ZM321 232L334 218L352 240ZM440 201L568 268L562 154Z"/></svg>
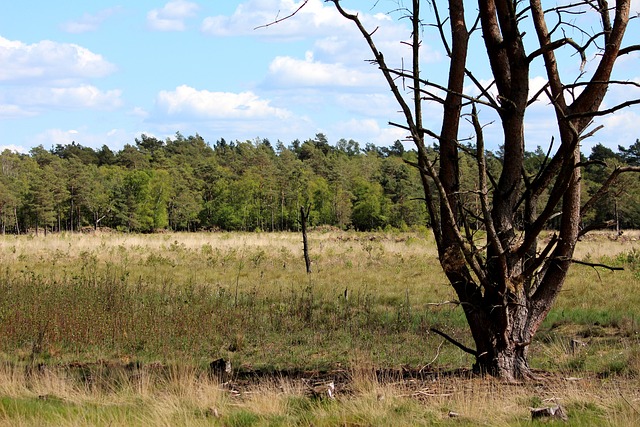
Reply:
<svg viewBox="0 0 640 427"><path fill-rule="evenodd" d="M437 147L430 148L437 157ZM460 151L462 217L480 215L472 148ZM501 153L487 153L499 172ZM545 161L528 154L526 173ZM77 231L297 230L300 207L310 207L311 225L342 229L403 229L429 225L416 152L396 141L390 147L323 134L288 146L266 139L207 144L199 135L159 140L142 135L113 152L80 144L33 148L28 155L0 154L2 233ZM640 142L619 151L597 146L585 159L588 198L612 168L640 164ZM621 176L587 217L590 223L618 218L640 226L640 183ZM585 199L586 200L586 199Z"/></svg>

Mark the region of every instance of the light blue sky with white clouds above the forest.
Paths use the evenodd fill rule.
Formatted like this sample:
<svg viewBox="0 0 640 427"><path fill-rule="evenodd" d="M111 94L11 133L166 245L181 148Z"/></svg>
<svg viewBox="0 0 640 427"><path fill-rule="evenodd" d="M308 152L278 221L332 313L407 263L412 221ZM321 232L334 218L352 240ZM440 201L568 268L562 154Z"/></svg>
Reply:
<svg viewBox="0 0 640 427"><path fill-rule="evenodd" d="M322 0L309 0L295 17L261 29L255 27L300 2L67 0L64 8L48 1L3 3L0 149L27 152L75 141L117 150L142 133L164 139L177 131L197 132L210 143L260 137L289 144L323 132L330 143L346 138L363 146L390 145L405 136L387 125L402 118L366 62L366 45ZM397 1L380 0L371 9L373 3L343 1L369 28L379 27L380 49L399 65L407 57L400 44L408 37L407 22L386 13ZM639 40L632 26L625 44ZM640 81L638 59L625 58L620 75ZM423 61L429 78L443 82L446 57L433 32L424 34ZM567 67L577 68L571 61ZM488 79L486 66L478 77ZM541 81L534 76L532 87ZM628 90L612 91L606 103L613 105ZM527 118L531 149L547 144L553 129L543 107ZM427 112L437 130L439 110ZM485 119L492 120L489 114ZM640 137L639 119L637 109L620 111L600 121L606 128L585 146L630 145ZM495 149L499 132L495 126L487 132Z"/></svg>

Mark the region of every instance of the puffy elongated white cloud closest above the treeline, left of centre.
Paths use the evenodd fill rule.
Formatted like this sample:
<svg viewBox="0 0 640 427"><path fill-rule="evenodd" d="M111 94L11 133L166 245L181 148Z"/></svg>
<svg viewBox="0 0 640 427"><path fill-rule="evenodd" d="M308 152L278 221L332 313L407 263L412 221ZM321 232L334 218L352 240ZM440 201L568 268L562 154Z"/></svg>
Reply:
<svg viewBox="0 0 640 427"><path fill-rule="evenodd" d="M270 101L260 99L253 92L210 92L186 85L178 86L175 91L160 92L156 105L166 115L196 119L282 119L291 114L272 107Z"/></svg>

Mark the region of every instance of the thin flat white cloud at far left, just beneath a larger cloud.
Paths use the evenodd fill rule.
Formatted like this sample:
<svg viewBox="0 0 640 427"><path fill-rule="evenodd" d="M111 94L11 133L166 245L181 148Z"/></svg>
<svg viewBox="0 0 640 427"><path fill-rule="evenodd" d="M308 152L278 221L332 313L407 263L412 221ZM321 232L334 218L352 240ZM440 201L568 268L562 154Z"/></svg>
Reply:
<svg viewBox="0 0 640 427"><path fill-rule="evenodd" d="M25 108L54 107L63 109L112 110L122 105L120 90L102 91L95 86L33 87L11 91L9 97Z"/></svg>

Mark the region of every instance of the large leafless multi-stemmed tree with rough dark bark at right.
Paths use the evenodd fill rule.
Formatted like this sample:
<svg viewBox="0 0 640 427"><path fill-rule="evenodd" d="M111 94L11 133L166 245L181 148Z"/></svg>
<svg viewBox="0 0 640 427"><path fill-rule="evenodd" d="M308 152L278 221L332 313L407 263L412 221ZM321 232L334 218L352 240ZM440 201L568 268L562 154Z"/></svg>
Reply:
<svg viewBox="0 0 640 427"><path fill-rule="evenodd" d="M465 10L471 2L464 0L398 1L397 11L411 22L411 38L404 42L411 51L410 67L387 64L374 41L376 29L365 28L358 14L343 8L346 2L325 2L333 3L358 28L373 54L372 63L379 67L401 108L406 123L391 124L405 129L418 150L414 166L421 172L440 263L464 310L476 348L437 332L473 354L478 371L509 380L530 377L528 347L562 288L578 238L586 232L581 228L581 215L594 204L594 200L583 204L580 199L584 166L580 142L600 128L593 125L595 117L640 103L630 98L600 109L612 85L639 87L612 78L616 60L640 50L638 45L622 45L630 21L630 0L617 0L614 5L607 0L559 1L546 10L541 0L478 0L473 10ZM446 16L441 14L444 4ZM428 6L429 22L423 20L423 5ZM476 13L469 24L468 18ZM591 32L573 23L578 15L592 15L598 30ZM421 36L429 29L435 29L449 58L444 84L429 80L420 69ZM582 44L567 34L579 34ZM475 64L468 60L470 41L477 36L482 37L491 68L488 85L474 75L471 67ZM558 57L570 54L579 60L578 75L563 75L558 65ZM590 73L584 71L588 58ZM544 67L547 82L530 96L531 69L538 64ZM468 85L480 95L465 94ZM545 162L531 174L524 168L525 113L535 101L553 109L559 142L554 147L551 140ZM442 109L439 129L424 124L427 102ZM498 117L499 142L504 147L499 176L487 170L478 106ZM459 134L465 119L474 131L471 151L478 166L481 215L474 221L482 223L486 239L470 231L460 201L458 161L464 147ZM435 158L427 149L429 141L437 143ZM626 171L637 172L638 168L617 169L614 174ZM606 188L594 197L604 192ZM540 244L541 233L555 217L559 217L557 233Z"/></svg>

